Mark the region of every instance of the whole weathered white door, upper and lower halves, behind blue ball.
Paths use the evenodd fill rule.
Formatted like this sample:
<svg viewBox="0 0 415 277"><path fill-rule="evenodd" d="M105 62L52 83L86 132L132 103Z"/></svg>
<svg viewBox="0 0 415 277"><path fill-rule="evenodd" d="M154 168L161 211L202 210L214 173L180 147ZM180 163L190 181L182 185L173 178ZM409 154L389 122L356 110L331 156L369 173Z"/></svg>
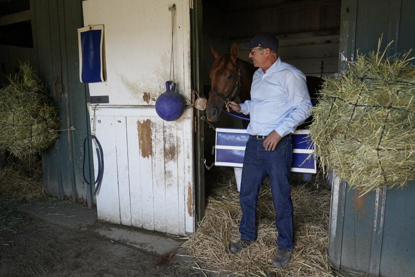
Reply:
<svg viewBox="0 0 415 277"><path fill-rule="evenodd" d="M186 109L179 120L166 122L154 105L170 79L173 3L174 81ZM104 24L106 81L89 84L91 96L109 96L96 109L105 163L98 218L173 234L194 232L189 1L87 0L83 15L85 26ZM96 157L94 165L97 172Z"/></svg>

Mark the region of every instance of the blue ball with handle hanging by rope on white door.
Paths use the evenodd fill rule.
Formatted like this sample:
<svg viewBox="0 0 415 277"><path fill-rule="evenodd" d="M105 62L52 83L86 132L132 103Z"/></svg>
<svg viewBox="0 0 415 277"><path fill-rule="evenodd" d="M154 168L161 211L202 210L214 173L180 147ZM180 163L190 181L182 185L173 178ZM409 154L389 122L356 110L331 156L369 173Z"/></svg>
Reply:
<svg viewBox="0 0 415 277"><path fill-rule="evenodd" d="M166 92L156 100L156 112L166 121L179 119L184 113L184 98L175 92L175 84L170 90L171 81L166 82Z"/></svg>

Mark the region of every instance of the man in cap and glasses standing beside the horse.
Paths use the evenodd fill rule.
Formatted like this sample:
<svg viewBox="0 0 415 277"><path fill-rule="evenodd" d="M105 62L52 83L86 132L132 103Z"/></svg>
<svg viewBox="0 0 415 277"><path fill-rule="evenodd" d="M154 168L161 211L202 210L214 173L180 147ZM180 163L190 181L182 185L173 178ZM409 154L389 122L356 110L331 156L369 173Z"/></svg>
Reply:
<svg viewBox="0 0 415 277"><path fill-rule="evenodd" d="M241 104L229 103L234 111L250 114L247 130L250 136L245 150L240 192L241 239L232 244L230 250L237 253L255 240L258 193L268 175L276 211L279 247L272 265L282 267L290 262L294 247L289 183L292 161L290 134L309 117L312 104L305 75L278 57L277 38L260 33L243 47L250 49L249 57L259 68L253 75L251 100Z"/></svg>

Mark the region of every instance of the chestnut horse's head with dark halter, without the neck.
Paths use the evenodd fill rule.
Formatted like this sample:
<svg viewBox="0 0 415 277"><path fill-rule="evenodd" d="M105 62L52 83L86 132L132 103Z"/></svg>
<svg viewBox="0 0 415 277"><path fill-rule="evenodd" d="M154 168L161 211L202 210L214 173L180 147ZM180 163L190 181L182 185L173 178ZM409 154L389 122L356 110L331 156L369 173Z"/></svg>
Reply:
<svg viewBox="0 0 415 277"><path fill-rule="evenodd" d="M216 122L225 103L238 96L241 72L238 67L239 49L236 44L232 44L230 54L220 55L212 46L210 50L215 61L210 69L211 91L207 100L206 115L208 121Z"/></svg>

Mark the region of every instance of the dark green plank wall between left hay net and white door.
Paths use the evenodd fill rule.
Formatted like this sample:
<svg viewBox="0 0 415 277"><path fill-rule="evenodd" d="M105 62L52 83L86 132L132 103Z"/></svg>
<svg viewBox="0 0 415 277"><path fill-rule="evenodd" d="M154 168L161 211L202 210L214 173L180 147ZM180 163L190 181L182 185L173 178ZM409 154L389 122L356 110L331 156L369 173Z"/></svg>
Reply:
<svg viewBox="0 0 415 277"><path fill-rule="evenodd" d="M87 85L79 81L77 29L83 27L82 0L31 0L35 68L59 107L60 139L42 153L47 193L91 207L93 199L83 181L83 139L89 130ZM86 174L92 162L88 146Z"/></svg>

